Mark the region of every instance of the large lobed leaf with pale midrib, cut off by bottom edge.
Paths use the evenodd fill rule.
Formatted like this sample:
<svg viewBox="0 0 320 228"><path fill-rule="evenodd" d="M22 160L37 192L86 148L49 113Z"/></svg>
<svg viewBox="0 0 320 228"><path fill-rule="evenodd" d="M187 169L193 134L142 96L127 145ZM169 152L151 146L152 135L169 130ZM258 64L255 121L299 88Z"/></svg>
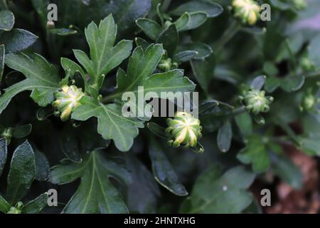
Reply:
<svg viewBox="0 0 320 228"><path fill-rule="evenodd" d="M81 178L75 195L63 209L67 214L127 213L126 204L110 177L129 182L129 173L107 160L103 152L93 151L80 163L64 162L52 168L50 182L63 185Z"/></svg>

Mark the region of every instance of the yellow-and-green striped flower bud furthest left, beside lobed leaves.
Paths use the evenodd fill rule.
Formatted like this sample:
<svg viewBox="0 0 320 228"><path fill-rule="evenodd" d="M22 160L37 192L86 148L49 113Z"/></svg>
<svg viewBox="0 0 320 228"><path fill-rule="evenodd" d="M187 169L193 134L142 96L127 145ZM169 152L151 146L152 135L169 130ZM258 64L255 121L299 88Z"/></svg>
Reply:
<svg viewBox="0 0 320 228"><path fill-rule="evenodd" d="M80 100L84 95L82 88L77 88L77 86L63 86L55 93L55 101L52 105L61 113L62 121L68 120L73 110L80 105Z"/></svg>

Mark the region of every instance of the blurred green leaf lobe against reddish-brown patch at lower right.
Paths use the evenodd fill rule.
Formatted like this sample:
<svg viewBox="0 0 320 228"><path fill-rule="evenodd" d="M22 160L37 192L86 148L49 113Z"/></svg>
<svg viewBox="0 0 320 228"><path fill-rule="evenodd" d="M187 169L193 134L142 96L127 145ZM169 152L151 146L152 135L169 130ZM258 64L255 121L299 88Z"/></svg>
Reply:
<svg viewBox="0 0 320 228"><path fill-rule="evenodd" d="M272 154L272 172L295 189L303 186L303 175L299 167L284 155Z"/></svg>

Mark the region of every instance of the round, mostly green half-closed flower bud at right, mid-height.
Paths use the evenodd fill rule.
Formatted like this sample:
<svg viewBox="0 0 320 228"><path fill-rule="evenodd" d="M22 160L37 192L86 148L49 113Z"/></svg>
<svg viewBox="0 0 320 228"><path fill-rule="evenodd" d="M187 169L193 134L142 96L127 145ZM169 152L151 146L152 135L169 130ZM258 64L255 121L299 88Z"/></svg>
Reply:
<svg viewBox="0 0 320 228"><path fill-rule="evenodd" d="M270 104L274 100L272 97L266 97L264 90L250 89L247 90L240 100L248 111L255 115L267 113L270 110Z"/></svg>

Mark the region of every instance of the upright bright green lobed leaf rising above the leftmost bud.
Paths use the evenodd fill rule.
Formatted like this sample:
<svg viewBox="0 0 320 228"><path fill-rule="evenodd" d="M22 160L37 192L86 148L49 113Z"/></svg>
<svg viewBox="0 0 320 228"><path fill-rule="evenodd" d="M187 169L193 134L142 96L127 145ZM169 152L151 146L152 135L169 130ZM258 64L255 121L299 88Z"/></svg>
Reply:
<svg viewBox="0 0 320 228"><path fill-rule="evenodd" d="M114 19L110 14L100 22L99 27L92 22L85 28L91 60L82 51L74 51L75 58L89 73L91 84L97 89L102 86L104 75L119 66L131 53L132 41L122 40L114 46L116 35L117 25L114 24Z"/></svg>

